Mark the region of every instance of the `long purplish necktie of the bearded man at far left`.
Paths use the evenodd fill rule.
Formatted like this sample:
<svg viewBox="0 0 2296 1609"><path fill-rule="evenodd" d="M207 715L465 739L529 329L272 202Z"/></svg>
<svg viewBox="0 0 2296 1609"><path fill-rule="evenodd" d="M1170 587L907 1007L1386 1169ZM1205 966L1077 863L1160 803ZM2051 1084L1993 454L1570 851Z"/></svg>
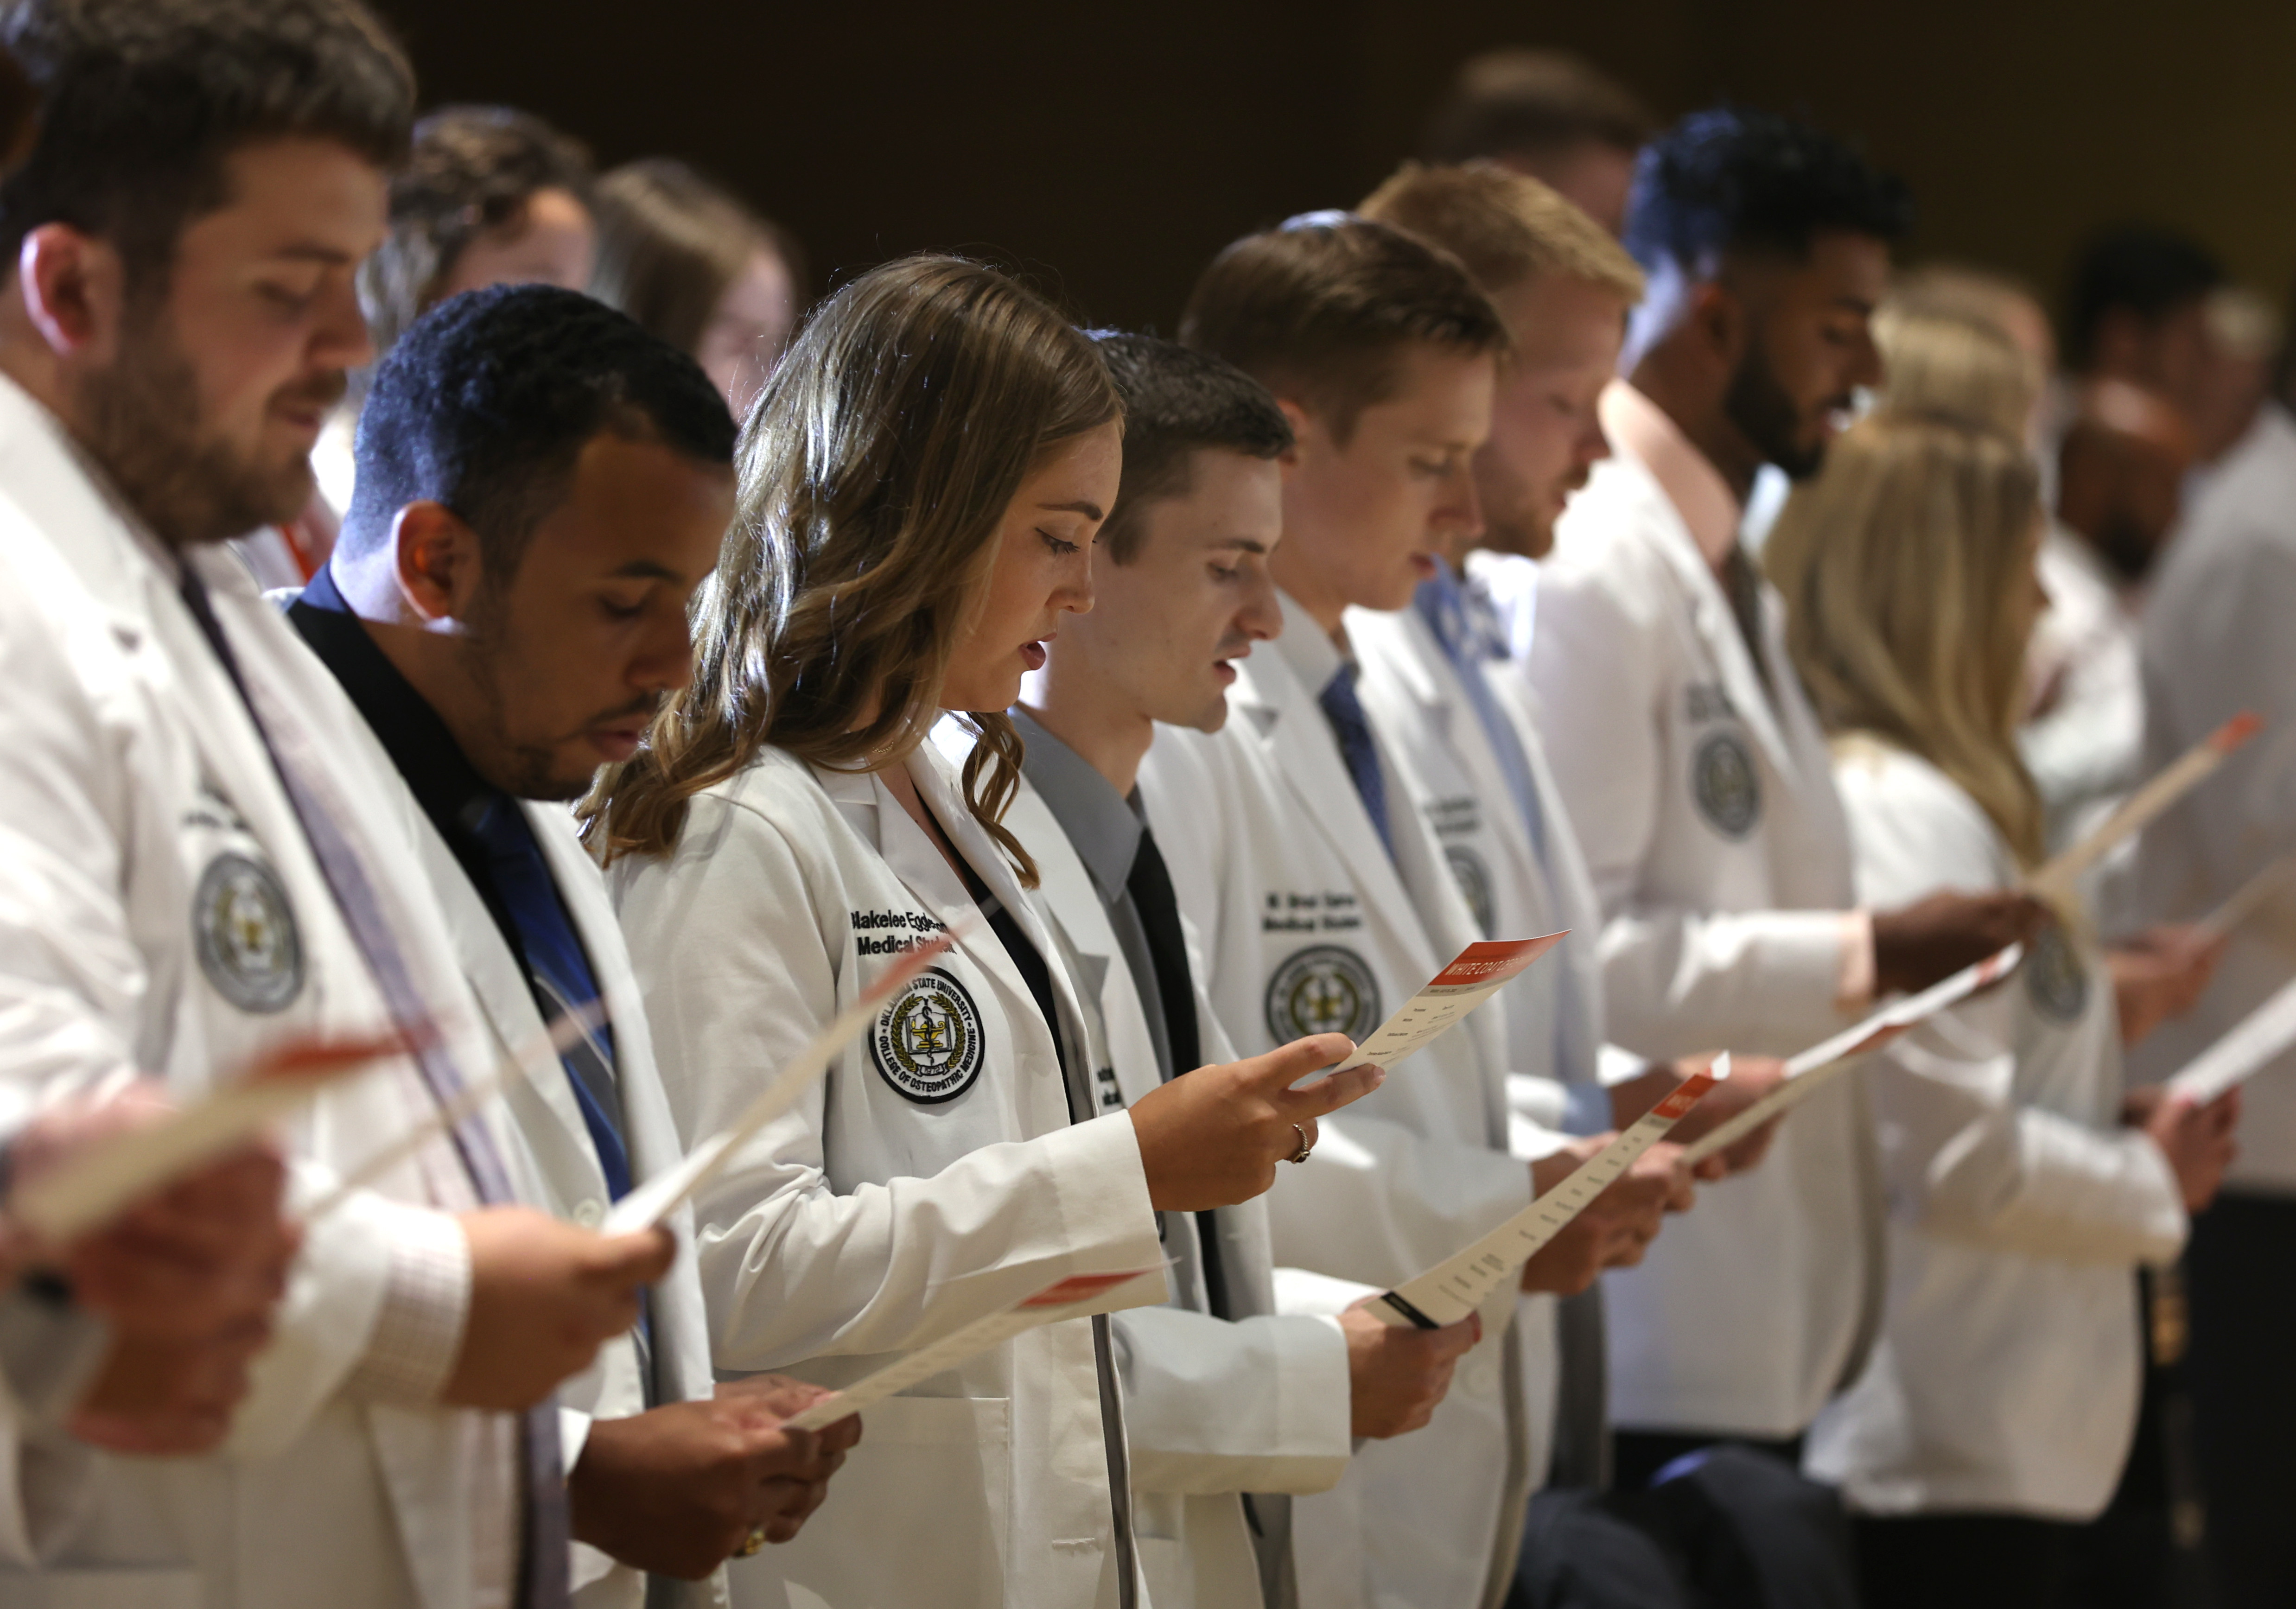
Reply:
<svg viewBox="0 0 2296 1609"><path fill-rule="evenodd" d="M367 962L367 971L374 975L374 985L383 996L390 1021L397 1024L397 1028L418 1047L413 1054L416 1065L422 1070L422 1081L429 1086L432 1099L441 1106L455 1104L464 1088L461 1074L455 1070L455 1063L445 1054L436 1033L432 1033L429 1012L422 1008L422 994L416 989L413 975L406 971L406 957L400 955L400 943L390 932L390 920L383 916L383 904L374 893L374 884L367 879L367 868L360 863L351 840L342 835L335 817L321 803L324 785L315 780L319 767L310 767L305 771L292 762L289 755L280 753L280 732L273 732L264 723L262 709L248 689L246 677L239 673L239 656L232 652L230 638L223 636L223 622L216 620L216 608L207 597L207 583L200 581L200 572L191 565L184 565L184 606L207 636L209 647L216 650L216 659L223 663L225 675L232 677L232 686L239 689L239 698L248 707L248 721L255 725L255 734L271 755L271 767L278 771L280 787L287 792L287 803L294 806L296 822L303 826L303 838L310 842L312 858L319 863L319 875L335 895L342 923L351 930L351 941L358 946L358 953ZM294 741L292 730L285 730L285 737ZM455 1150L461 1155L461 1166L468 1171L471 1184L478 1189L478 1198L482 1203L494 1205L517 1200L510 1189L510 1173L503 1168L503 1157L494 1148L494 1136L478 1118L455 1125ZM528 1409L521 1430L523 1435L519 1441L526 1503L521 1510L523 1536L517 1602L521 1609L565 1609L572 1602L574 1591L569 1552L572 1531L567 1522L563 1453L558 1446L556 1398Z"/></svg>

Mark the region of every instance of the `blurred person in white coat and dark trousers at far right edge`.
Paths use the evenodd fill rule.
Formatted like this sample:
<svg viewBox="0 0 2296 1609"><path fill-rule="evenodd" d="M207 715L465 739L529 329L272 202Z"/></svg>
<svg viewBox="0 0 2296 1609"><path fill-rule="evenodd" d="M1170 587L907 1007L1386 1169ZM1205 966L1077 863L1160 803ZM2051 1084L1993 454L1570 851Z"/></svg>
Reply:
<svg viewBox="0 0 2296 1609"><path fill-rule="evenodd" d="M2213 289L2213 287L2211 287ZM2223 310L2227 303L2216 303ZM2206 298L2200 342L2227 335ZM2234 360L2239 360L2234 356ZM2255 370L2250 370L2255 372ZM2200 388L2202 395L2206 388ZM2206 404L2202 404L2206 406ZM2188 489L2144 604L2144 764L2190 748L2227 716L2255 709L2264 737L2225 762L2147 829L2138 897L2149 918L2195 918L2296 849L2296 418L2262 395ZM2209 452L2200 441L2200 452ZM2144 1079L2174 1074L2200 1049L2296 978L2296 891L2273 888L2225 948L2216 982L2186 1021L2135 1058ZM2186 1253L2193 1432L2206 1499L2209 1561L2223 1609L2296 1600L2296 1295L2259 1278L2296 1256L2296 1054L2248 1086L2243 1150Z"/></svg>

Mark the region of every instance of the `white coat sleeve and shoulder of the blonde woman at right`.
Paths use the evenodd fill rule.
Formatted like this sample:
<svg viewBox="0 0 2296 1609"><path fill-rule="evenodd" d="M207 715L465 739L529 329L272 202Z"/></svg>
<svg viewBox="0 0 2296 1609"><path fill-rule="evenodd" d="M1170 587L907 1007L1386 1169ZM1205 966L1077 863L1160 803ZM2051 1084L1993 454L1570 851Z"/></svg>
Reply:
<svg viewBox="0 0 2296 1609"><path fill-rule="evenodd" d="M1926 767L1846 762L1841 794L1862 897L1906 902L2004 881L1986 819ZM2020 989L2014 978L1878 1054L1874 1113L1896 1210L1933 1235L2000 1251L2172 1260L2186 1217L2161 1150L2135 1129L2101 1129L2016 1099Z"/></svg>

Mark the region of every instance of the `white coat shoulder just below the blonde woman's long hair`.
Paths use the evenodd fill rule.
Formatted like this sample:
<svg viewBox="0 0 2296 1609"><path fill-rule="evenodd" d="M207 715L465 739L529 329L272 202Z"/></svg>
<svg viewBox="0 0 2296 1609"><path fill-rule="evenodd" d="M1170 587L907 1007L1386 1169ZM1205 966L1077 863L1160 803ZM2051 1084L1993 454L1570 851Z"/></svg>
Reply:
<svg viewBox="0 0 2296 1609"><path fill-rule="evenodd" d="M1867 732L1832 744L1857 854L1857 897L1901 904L1936 888L1998 888L2014 858L1993 819L1922 755Z"/></svg>

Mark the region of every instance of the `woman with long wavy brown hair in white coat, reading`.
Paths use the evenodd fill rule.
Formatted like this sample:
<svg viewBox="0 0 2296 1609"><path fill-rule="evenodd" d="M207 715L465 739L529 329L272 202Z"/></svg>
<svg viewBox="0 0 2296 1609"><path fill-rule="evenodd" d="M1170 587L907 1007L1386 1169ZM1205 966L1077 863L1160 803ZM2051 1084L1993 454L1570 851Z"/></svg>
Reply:
<svg viewBox="0 0 2296 1609"><path fill-rule="evenodd" d="M760 395L696 601L693 684L590 801L680 1129L760 1079L918 934L987 911L696 1203L714 1363L843 1384L1077 1272L1159 1267L1157 1212L1247 1200L1368 1067L1318 1035L1093 1116L1070 980L1001 826L1003 716L1091 608L1123 420L1093 344L955 259L877 269ZM925 741L980 741L962 776ZM1162 1299L1153 1292L1150 1299ZM1130 1604L1107 1320L1054 1324L868 1412L742 1604Z"/></svg>

